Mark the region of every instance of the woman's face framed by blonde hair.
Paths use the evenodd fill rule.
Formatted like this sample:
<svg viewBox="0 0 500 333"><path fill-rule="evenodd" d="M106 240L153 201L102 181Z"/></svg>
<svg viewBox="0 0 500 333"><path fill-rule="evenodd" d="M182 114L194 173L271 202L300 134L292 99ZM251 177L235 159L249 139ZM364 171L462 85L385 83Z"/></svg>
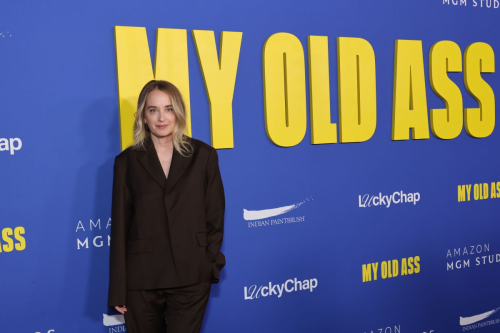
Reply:
<svg viewBox="0 0 500 333"><path fill-rule="evenodd" d="M162 90L153 90L146 98L144 123L157 138L171 136L175 126L175 113L170 96Z"/></svg>

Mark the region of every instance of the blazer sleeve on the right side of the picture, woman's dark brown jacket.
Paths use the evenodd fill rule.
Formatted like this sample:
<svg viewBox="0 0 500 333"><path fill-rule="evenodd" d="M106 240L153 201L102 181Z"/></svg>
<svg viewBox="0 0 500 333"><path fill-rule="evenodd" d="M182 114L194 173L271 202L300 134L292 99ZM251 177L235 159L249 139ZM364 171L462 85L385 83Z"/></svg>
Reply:
<svg viewBox="0 0 500 333"><path fill-rule="evenodd" d="M226 264L226 258L220 248L224 236L224 186L219 170L217 150L211 149L206 171L205 218L207 222L207 251L213 261L212 283L219 282L220 271Z"/></svg>

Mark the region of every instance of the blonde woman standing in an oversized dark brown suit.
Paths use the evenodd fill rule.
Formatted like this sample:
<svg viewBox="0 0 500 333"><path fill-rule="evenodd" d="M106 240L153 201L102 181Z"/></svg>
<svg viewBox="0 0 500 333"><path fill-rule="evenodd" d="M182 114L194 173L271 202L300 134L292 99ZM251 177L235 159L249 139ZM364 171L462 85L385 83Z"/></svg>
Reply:
<svg viewBox="0 0 500 333"><path fill-rule="evenodd" d="M135 143L115 158L108 306L129 333L199 332L225 265L217 151L185 136L185 126L179 90L150 81Z"/></svg>

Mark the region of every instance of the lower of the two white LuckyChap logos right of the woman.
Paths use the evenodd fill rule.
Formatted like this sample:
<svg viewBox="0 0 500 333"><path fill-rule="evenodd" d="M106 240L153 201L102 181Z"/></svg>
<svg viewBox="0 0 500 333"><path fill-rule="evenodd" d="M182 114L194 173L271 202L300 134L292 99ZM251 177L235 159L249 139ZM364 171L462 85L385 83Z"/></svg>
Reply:
<svg viewBox="0 0 500 333"><path fill-rule="evenodd" d="M281 284L269 284L257 286L256 284L250 287L244 287L245 300L257 299L260 297L277 296L281 298L283 293L293 293L296 291L309 290L313 292L318 286L318 279L306 279L303 281L297 280L297 278L288 279Z"/></svg>

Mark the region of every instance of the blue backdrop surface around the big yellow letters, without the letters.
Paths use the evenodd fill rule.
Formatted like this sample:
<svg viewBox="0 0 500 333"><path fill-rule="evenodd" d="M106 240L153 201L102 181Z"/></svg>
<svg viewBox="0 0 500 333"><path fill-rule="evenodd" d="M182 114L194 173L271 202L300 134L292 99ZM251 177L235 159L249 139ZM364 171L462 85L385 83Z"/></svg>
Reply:
<svg viewBox="0 0 500 333"><path fill-rule="evenodd" d="M483 139L464 129L453 140L432 133L428 140L391 140L397 39L422 41L429 109L444 107L429 83L434 43L454 41L463 54L484 42L500 53L498 3L456 3L2 2L0 332L124 331L106 307L112 167L120 152L115 26L146 27L152 55L157 28L188 31L193 136L208 143L209 103L190 32L212 30L217 43L222 31L243 32L234 148L218 151L227 266L212 289L204 332L498 332L500 199L490 193L500 182L498 129ZM308 104L302 142L271 142L262 50L277 32L302 42L306 77L307 36L329 37L335 123L336 38L370 42L377 73L370 140L311 144ZM449 77L464 107L477 107L463 73ZM498 75L483 78L498 95ZM489 198L474 200L475 184L483 183ZM460 185L471 185L470 201L459 202ZM419 201L360 207L364 198L401 191L418 193ZM292 205L274 217L244 215ZM418 269L402 275L402 259L410 257ZM383 262L392 260L398 276L384 279ZM372 263L377 280L363 282L363 265Z"/></svg>

